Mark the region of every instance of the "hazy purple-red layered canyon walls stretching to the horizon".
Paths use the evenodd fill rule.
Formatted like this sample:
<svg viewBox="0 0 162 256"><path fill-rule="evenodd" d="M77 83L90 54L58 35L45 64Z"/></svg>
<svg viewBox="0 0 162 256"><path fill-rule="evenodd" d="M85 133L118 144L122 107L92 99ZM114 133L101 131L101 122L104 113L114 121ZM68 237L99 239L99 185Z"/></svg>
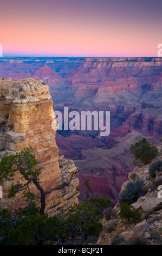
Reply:
<svg viewBox="0 0 162 256"><path fill-rule="evenodd" d="M57 130L59 153L73 160L80 184L115 204L132 172L131 144L162 137L162 58L0 58L0 77L33 78L49 87L54 111L110 111L109 136L100 131ZM80 194L82 197L82 193ZM82 198L80 198L81 200Z"/></svg>

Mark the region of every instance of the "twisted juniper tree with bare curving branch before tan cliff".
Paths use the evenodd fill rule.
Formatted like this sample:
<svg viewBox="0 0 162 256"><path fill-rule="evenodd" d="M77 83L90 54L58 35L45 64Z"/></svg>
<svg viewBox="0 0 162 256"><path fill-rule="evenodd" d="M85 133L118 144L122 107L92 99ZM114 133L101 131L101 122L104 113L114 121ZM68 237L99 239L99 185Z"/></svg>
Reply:
<svg viewBox="0 0 162 256"><path fill-rule="evenodd" d="M25 148L20 153L14 155L3 156L0 162L0 181L13 180L14 174L16 172L20 173L24 183L17 183L11 185L8 193L8 197L14 197L16 193L23 191L25 197L33 197L34 194L30 192L29 185L32 183L36 186L37 190L41 195L41 208L40 214L44 215L44 210L46 207L46 196L54 190L61 190L63 187L70 185L70 182L77 173L77 170L69 173L66 169L62 173L61 185L49 188L49 190L44 191L40 181L40 174L42 168L38 168L38 162L35 157L35 152L33 148Z"/></svg>

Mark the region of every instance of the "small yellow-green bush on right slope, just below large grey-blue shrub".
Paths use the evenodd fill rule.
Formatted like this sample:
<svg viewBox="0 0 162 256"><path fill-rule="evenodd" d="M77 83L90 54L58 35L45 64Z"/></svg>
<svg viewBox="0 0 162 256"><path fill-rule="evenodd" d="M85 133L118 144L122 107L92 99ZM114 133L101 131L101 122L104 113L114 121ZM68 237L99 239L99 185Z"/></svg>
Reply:
<svg viewBox="0 0 162 256"><path fill-rule="evenodd" d="M128 203L124 203L120 206L119 216L131 223L137 223L141 218L139 211L135 209L133 205L128 205Z"/></svg>

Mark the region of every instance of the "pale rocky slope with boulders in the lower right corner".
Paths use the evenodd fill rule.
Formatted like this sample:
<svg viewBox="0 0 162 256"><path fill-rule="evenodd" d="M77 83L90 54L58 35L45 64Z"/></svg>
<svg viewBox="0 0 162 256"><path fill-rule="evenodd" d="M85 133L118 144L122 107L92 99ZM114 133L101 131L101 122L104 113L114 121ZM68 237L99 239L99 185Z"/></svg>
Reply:
<svg viewBox="0 0 162 256"><path fill-rule="evenodd" d="M153 161L162 160L162 146L158 147L158 155ZM151 163L150 163L151 164ZM114 211L116 215L106 220L103 217L103 230L98 240L98 245L111 245L118 237L120 245L161 245L162 241L162 198L158 196L158 186L162 185L162 172L157 172L153 179L148 169L150 164L137 166L129 173L128 180L122 184L120 194L126 189L128 182L133 182L134 179L144 181L146 193L138 198L137 202L132 203L132 206L137 209L141 218L138 223L128 223L122 220L119 216L120 204L115 205ZM115 223L115 228L109 231L109 225ZM117 241L117 240L116 240ZM119 243L116 242L116 245Z"/></svg>

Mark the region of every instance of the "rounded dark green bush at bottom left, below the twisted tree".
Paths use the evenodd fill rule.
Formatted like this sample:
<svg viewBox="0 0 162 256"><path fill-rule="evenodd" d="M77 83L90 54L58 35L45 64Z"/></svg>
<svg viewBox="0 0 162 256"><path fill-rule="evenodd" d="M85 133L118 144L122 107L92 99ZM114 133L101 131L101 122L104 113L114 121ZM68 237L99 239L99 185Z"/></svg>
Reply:
<svg viewBox="0 0 162 256"><path fill-rule="evenodd" d="M30 215L9 230L7 245L53 245L59 227L57 216Z"/></svg>

